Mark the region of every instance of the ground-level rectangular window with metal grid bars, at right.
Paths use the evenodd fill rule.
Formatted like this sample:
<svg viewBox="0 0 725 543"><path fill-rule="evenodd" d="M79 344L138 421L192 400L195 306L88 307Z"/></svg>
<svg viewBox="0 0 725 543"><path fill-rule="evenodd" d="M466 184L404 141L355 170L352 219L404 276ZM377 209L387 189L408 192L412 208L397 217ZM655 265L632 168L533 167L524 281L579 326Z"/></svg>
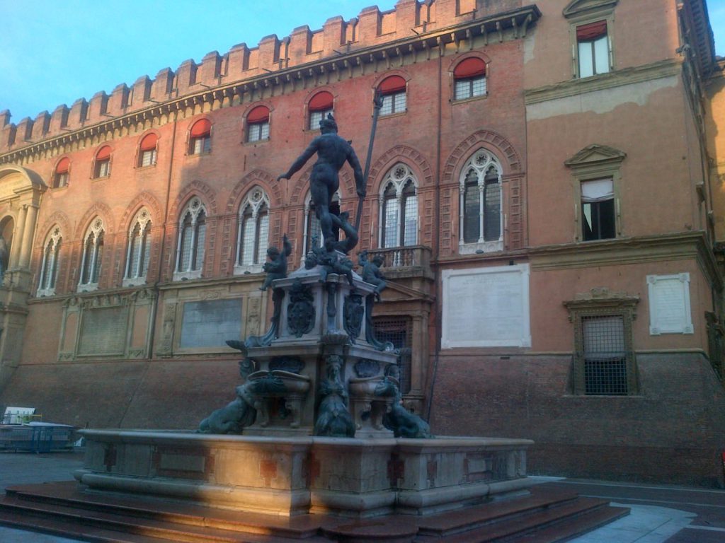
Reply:
<svg viewBox="0 0 725 543"><path fill-rule="evenodd" d="M624 316L585 316L584 394L626 395L627 362Z"/></svg>

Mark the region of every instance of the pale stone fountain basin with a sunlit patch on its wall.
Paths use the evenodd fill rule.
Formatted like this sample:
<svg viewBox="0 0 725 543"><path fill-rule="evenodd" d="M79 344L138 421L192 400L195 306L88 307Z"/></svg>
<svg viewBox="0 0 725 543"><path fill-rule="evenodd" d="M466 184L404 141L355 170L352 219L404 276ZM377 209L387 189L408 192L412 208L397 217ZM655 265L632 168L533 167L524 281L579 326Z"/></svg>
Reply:
<svg viewBox="0 0 725 543"><path fill-rule="evenodd" d="M273 515L430 515L528 494L527 439L84 430L91 489Z"/></svg>

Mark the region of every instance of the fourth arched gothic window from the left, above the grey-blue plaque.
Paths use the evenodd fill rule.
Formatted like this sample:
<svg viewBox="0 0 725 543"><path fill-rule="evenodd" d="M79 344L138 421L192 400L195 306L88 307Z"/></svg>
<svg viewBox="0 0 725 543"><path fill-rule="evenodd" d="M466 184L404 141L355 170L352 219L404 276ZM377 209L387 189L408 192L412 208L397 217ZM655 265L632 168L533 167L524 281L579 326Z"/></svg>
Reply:
<svg viewBox="0 0 725 543"><path fill-rule="evenodd" d="M207 234L207 210L199 198L191 198L179 222L178 251L174 279L202 277L204 242Z"/></svg>

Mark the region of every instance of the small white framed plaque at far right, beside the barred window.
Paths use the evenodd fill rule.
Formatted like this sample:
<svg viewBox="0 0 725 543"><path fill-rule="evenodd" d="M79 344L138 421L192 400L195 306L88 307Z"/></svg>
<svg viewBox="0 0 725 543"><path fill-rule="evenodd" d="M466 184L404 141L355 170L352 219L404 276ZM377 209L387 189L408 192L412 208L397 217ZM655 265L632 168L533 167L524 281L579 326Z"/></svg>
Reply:
<svg viewBox="0 0 725 543"><path fill-rule="evenodd" d="M650 334L692 334L689 274L647 275Z"/></svg>

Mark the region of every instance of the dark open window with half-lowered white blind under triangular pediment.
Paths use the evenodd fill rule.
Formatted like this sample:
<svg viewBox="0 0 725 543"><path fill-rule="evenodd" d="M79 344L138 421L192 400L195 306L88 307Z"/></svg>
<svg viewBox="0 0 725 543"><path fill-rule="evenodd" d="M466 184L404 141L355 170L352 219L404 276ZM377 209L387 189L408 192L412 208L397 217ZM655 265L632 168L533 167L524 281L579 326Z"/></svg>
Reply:
<svg viewBox="0 0 725 543"><path fill-rule="evenodd" d="M581 219L584 241L616 237L614 185L611 177L581 182Z"/></svg>

